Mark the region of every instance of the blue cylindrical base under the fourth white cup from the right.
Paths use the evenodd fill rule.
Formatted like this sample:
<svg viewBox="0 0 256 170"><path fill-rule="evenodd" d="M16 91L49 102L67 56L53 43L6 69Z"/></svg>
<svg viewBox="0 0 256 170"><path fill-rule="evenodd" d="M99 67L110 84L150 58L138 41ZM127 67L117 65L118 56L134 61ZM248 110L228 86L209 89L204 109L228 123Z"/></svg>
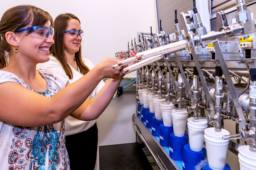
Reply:
<svg viewBox="0 0 256 170"><path fill-rule="evenodd" d="M170 158L173 160L182 160L183 159L183 148L184 145L188 144L188 134L185 133L184 136L178 137L175 136L172 132L170 134Z"/></svg>

